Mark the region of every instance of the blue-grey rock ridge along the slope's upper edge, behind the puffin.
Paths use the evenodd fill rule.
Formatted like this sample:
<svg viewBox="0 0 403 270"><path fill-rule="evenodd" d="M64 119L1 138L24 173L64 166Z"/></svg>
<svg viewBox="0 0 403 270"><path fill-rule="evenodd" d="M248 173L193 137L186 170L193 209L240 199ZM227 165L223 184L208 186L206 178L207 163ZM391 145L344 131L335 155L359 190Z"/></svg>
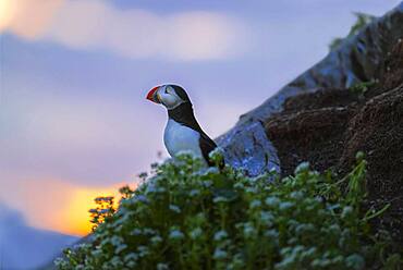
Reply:
<svg viewBox="0 0 403 270"><path fill-rule="evenodd" d="M356 83L379 78L384 70L384 59L402 36L403 2L366 26L358 35L346 38L322 61L261 106L242 115L231 131L218 138L219 145L225 150L227 161L243 167L252 175L268 170L280 172L282 161L279 163L276 148L265 138L261 123L283 111L286 98L329 87L347 88ZM339 98L342 99L341 96ZM251 156L252 152L254 155Z"/></svg>

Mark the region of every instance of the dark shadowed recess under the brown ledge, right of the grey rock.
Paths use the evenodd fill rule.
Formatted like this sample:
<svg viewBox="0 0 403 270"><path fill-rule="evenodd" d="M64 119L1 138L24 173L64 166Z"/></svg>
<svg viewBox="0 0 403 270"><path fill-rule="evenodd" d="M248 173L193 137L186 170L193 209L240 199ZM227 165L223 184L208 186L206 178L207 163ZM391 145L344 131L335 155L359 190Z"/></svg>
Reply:
<svg viewBox="0 0 403 270"><path fill-rule="evenodd" d="M282 175L293 174L303 161L318 171L338 164L353 113L350 107L328 107L270 118L266 128L278 149Z"/></svg>

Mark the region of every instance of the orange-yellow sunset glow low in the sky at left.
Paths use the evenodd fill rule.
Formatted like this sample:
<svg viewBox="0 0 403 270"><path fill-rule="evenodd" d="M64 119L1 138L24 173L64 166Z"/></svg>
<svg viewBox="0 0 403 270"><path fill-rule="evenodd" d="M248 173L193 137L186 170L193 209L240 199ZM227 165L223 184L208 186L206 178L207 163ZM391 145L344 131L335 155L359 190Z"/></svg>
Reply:
<svg viewBox="0 0 403 270"><path fill-rule="evenodd" d="M121 198L119 188L127 184L135 187L133 181L98 187L52 179L28 180L15 183L14 191L19 196L0 191L0 198L24 211L27 223L34 228L82 236L91 229L88 210L96 206L94 198L113 196L118 204Z"/></svg>

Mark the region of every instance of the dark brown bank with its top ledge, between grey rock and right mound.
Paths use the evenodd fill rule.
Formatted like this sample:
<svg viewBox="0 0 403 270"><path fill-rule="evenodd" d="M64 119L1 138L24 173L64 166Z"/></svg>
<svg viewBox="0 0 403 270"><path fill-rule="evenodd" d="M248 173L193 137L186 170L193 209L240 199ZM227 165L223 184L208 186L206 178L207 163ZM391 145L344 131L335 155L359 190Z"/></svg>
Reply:
<svg viewBox="0 0 403 270"><path fill-rule="evenodd" d="M337 97L333 103L320 102L327 98L331 101L332 97ZM288 99L284 110L267 120L266 131L278 150L283 175L293 174L303 161L315 164L316 170L327 170L339 162L343 133L356 111L355 99L345 89L320 89ZM346 101L353 102L343 105Z"/></svg>

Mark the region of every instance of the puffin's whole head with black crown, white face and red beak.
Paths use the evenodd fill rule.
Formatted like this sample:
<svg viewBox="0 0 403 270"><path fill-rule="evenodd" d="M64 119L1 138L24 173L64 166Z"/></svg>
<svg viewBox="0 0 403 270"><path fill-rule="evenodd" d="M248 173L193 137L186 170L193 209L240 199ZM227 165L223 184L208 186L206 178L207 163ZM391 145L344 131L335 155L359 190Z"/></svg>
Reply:
<svg viewBox="0 0 403 270"><path fill-rule="evenodd" d="M168 110L172 110L182 103L191 103L186 91L179 85L161 85L154 87L147 94L147 99L163 105Z"/></svg>

